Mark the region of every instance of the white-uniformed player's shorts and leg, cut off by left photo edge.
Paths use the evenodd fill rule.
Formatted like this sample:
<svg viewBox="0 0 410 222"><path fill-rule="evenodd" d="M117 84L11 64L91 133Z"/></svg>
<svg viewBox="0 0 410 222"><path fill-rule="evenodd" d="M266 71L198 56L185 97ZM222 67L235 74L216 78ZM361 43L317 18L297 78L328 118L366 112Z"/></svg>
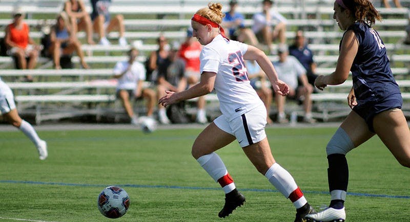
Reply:
<svg viewBox="0 0 410 222"><path fill-rule="evenodd" d="M14 103L13 92L10 87L2 81L0 78L0 113L3 117L17 127L19 130L22 130L24 134L34 143L37 147L40 160L45 160L48 156L47 153L47 143L44 140L41 140L33 126L20 118L17 113L16 105Z"/></svg>

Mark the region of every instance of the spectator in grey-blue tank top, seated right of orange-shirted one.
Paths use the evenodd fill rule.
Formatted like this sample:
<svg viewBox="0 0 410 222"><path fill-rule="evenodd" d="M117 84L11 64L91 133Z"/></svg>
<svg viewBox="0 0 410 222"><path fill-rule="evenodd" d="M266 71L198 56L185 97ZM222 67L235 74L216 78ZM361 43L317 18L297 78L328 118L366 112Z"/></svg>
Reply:
<svg viewBox="0 0 410 222"><path fill-rule="evenodd" d="M60 12L57 16L56 24L51 28L50 43L48 51L54 60L55 69L61 69L61 54L71 55L74 51L80 58L81 66L83 66L84 69L89 69L88 64L84 60L84 52L81 49L81 43L71 32L70 21L67 13L64 11Z"/></svg>

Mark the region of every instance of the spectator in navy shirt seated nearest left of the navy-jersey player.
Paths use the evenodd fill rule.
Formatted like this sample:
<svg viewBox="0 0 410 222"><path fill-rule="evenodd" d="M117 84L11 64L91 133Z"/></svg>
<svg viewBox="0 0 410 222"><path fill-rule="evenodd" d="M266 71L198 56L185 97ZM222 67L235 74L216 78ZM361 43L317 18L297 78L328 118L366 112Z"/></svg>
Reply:
<svg viewBox="0 0 410 222"><path fill-rule="evenodd" d="M299 60L306 70L309 84L314 85L317 77L315 74L316 62L313 60L313 52L309 49L302 30L296 31L295 42L289 47L289 55Z"/></svg>

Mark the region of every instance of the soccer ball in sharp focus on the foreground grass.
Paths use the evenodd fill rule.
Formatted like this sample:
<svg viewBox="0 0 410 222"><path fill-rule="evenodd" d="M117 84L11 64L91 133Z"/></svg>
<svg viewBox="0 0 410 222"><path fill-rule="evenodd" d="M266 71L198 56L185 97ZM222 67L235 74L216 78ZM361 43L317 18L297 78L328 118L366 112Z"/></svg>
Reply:
<svg viewBox="0 0 410 222"><path fill-rule="evenodd" d="M116 186L104 188L98 195L97 206L99 212L109 218L123 216L130 207L128 193Z"/></svg>

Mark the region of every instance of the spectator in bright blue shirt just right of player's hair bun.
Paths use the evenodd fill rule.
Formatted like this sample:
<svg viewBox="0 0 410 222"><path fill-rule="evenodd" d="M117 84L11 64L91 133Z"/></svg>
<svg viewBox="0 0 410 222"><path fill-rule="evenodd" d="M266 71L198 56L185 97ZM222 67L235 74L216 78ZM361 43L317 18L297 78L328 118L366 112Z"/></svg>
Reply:
<svg viewBox="0 0 410 222"><path fill-rule="evenodd" d="M255 33L250 28L245 27L243 24L245 17L242 13L236 11L238 1L231 0L229 7L229 11L222 18L222 27L228 29L228 33L226 33L229 35L228 37L232 40L247 42L249 45L257 46L259 42Z"/></svg>

